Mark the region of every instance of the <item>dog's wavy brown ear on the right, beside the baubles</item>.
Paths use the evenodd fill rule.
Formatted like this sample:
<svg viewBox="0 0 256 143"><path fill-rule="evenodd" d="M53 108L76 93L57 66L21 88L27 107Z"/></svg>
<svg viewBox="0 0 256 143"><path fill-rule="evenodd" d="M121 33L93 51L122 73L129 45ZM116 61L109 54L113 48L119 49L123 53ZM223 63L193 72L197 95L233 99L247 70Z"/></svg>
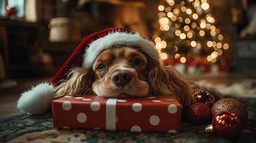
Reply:
<svg viewBox="0 0 256 143"><path fill-rule="evenodd" d="M150 91L156 95L174 95L183 108L192 103L192 92L181 75L171 66L157 64L149 71Z"/></svg>

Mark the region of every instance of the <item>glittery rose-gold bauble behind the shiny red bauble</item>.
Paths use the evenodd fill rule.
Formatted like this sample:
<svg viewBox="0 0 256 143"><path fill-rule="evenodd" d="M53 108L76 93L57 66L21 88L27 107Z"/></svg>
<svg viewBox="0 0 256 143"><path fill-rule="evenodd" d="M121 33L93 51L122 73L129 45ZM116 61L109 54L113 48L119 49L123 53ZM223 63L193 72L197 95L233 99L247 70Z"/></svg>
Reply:
<svg viewBox="0 0 256 143"><path fill-rule="evenodd" d="M212 106L212 116L215 116L215 114L221 111L230 111L232 113L235 113L240 118L241 123L245 124L247 122L248 112L246 110L246 107L238 100L232 98L224 98L217 101Z"/></svg>

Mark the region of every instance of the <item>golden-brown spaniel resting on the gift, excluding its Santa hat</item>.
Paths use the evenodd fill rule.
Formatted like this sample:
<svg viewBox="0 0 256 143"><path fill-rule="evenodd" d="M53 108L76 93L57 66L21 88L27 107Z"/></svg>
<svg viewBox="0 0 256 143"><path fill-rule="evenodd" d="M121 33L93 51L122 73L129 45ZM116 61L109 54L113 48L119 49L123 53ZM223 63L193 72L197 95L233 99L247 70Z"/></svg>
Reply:
<svg viewBox="0 0 256 143"><path fill-rule="evenodd" d="M95 94L105 98L173 95L184 107L192 102L187 83L171 66L163 66L135 46L102 51L88 69L73 67L55 88L55 98Z"/></svg>

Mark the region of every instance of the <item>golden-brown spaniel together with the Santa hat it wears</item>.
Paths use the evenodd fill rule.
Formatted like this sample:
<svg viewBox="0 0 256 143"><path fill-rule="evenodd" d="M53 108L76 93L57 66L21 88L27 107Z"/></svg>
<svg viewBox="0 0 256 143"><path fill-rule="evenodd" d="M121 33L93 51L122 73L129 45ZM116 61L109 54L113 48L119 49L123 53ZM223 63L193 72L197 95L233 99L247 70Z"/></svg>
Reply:
<svg viewBox="0 0 256 143"><path fill-rule="evenodd" d="M183 108L192 102L189 86L175 69L162 65L155 45L123 28L87 36L54 79L23 92L17 107L41 114L56 98L83 94L106 98L170 95Z"/></svg>

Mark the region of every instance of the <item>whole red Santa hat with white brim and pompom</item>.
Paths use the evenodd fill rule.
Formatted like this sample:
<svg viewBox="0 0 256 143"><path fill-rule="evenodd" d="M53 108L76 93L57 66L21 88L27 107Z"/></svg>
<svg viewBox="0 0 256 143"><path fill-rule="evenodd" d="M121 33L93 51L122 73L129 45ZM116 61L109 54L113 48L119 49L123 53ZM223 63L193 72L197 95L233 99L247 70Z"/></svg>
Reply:
<svg viewBox="0 0 256 143"><path fill-rule="evenodd" d="M84 69L92 67L98 54L114 45L137 46L151 58L159 61L159 53L154 44L138 33L124 28L110 28L92 33L78 45L50 83L39 83L29 91L23 92L17 102L17 108L24 113L45 113L50 108L51 101L54 100L55 87L60 84L60 80L67 78L67 73L72 67L82 67Z"/></svg>

